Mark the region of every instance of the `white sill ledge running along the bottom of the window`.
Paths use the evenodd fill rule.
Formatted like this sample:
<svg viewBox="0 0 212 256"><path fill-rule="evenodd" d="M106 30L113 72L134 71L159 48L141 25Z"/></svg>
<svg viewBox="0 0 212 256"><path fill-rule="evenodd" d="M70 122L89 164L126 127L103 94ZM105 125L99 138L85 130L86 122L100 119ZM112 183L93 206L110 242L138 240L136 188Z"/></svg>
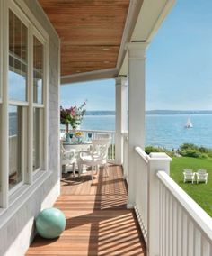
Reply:
<svg viewBox="0 0 212 256"><path fill-rule="evenodd" d="M22 205L33 195L33 193L45 182L52 174L52 171L40 170L33 177L33 184L23 184L13 195L9 197L9 206L0 208L0 228L4 226Z"/></svg>

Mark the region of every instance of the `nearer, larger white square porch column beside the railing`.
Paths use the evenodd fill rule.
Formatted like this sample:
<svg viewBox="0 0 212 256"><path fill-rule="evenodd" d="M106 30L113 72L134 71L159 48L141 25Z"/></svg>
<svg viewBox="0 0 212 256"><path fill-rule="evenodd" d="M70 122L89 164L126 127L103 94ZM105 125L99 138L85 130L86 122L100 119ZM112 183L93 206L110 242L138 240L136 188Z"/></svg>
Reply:
<svg viewBox="0 0 212 256"><path fill-rule="evenodd" d="M128 208L136 200L136 151L145 148L146 42L128 43Z"/></svg>

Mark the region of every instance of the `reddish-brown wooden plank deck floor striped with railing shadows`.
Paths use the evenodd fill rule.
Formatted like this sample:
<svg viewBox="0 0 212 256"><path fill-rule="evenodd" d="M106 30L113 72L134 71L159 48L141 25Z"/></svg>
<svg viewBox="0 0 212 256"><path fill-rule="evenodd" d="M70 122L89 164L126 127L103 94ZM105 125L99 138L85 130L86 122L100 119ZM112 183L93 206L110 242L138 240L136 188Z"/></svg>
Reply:
<svg viewBox="0 0 212 256"><path fill-rule="evenodd" d="M93 185L89 173L62 182L55 206L66 215L66 230L54 240L36 236L26 255L146 255L135 213L126 209L122 171L109 171L110 177L100 171Z"/></svg>

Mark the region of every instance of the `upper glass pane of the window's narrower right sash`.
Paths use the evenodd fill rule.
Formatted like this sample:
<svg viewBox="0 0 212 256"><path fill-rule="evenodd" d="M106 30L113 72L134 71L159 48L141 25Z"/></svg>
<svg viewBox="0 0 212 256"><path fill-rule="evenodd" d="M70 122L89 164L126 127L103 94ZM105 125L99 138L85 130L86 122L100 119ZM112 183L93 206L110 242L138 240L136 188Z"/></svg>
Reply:
<svg viewBox="0 0 212 256"><path fill-rule="evenodd" d="M33 98L34 103L43 103L43 45L36 37L33 42Z"/></svg>

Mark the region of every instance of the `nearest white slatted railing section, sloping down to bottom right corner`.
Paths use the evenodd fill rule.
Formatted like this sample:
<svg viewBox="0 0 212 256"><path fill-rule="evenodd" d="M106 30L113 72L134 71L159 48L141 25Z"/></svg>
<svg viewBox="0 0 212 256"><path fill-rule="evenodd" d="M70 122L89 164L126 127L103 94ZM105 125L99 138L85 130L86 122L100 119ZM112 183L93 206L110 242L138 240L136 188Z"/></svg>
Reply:
<svg viewBox="0 0 212 256"><path fill-rule="evenodd" d="M164 171L159 178L160 255L212 255L211 217Z"/></svg>

